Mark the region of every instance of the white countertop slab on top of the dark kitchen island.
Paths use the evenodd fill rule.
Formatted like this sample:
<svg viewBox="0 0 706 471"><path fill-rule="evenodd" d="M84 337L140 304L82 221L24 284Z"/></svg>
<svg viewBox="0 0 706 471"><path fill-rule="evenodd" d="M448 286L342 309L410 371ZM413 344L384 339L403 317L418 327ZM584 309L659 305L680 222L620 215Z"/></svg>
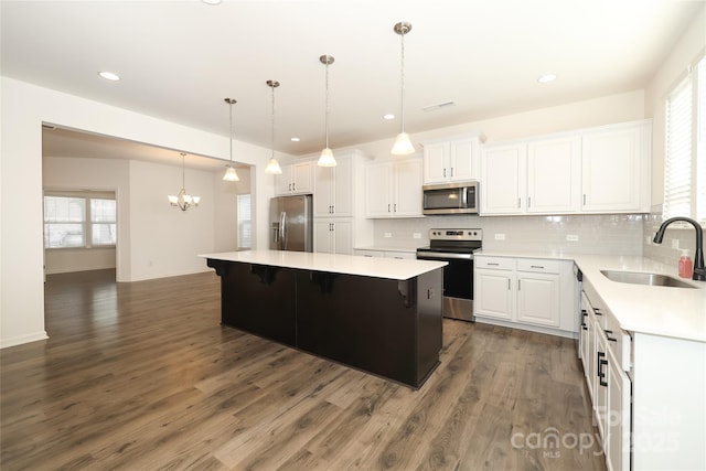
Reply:
<svg viewBox="0 0 706 471"><path fill-rule="evenodd" d="M373 278L406 280L448 265L446 261L356 257L287 250L245 250L200 255L203 258L328 271Z"/></svg>

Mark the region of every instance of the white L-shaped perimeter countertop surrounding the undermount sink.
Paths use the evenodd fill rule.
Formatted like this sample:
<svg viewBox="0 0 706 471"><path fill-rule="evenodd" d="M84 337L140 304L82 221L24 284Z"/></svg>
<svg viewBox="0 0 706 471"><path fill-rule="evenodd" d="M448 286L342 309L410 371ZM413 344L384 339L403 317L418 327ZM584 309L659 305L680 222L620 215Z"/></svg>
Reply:
<svg viewBox="0 0 706 471"><path fill-rule="evenodd" d="M706 342L706 281L680 278L668 266L644 257L483 250L496 257L574 260L623 330ZM612 281L600 270L648 271L671 276L698 289Z"/></svg>

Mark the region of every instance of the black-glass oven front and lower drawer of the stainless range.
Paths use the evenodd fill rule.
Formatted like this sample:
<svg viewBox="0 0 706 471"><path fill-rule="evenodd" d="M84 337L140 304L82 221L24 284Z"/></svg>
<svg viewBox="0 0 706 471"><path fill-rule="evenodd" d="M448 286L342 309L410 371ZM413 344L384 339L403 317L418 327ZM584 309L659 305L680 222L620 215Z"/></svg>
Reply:
<svg viewBox="0 0 706 471"><path fill-rule="evenodd" d="M443 317L473 320L473 254L417 249L417 259L446 261L443 267Z"/></svg>

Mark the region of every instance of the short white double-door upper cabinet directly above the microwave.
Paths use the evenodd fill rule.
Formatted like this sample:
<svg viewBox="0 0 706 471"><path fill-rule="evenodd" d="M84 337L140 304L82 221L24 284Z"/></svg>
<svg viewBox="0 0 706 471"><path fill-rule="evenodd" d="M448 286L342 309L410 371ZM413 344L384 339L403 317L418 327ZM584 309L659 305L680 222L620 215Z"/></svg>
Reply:
<svg viewBox="0 0 706 471"><path fill-rule="evenodd" d="M424 142L424 184L478 180L478 147L484 140L479 135Z"/></svg>

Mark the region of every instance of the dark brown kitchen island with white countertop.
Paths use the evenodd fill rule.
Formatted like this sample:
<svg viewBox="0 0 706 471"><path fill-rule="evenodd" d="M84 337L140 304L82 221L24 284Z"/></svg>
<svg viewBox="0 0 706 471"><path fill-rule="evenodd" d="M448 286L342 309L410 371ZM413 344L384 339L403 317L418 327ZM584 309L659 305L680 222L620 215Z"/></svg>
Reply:
<svg viewBox="0 0 706 471"><path fill-rule="evenodd" d="M284 250L202 255L221 321L419 388L439 364L442 261Z"/></svg>

